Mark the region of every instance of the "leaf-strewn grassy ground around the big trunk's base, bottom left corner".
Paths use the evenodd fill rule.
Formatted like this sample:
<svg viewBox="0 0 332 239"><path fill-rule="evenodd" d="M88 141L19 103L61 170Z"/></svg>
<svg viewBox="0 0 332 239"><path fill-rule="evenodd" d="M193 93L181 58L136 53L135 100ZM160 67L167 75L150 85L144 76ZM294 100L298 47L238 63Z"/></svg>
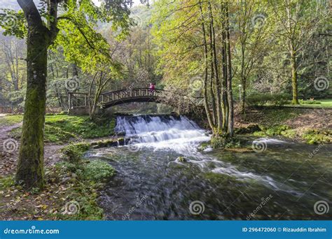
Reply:
<svg viewBox="0 0 332 239"><path fill-rule="evenodd" d="M43 189L23 190L14 176L0 176L0 219L101 220L98 191L115 170L102 160L83 159L89 143L64 148L64 160L46 167ZM66 154L66 152L71 152ZM75 160L71 157L76 154ZM9 206L8 206L9 205Z"/></svg>

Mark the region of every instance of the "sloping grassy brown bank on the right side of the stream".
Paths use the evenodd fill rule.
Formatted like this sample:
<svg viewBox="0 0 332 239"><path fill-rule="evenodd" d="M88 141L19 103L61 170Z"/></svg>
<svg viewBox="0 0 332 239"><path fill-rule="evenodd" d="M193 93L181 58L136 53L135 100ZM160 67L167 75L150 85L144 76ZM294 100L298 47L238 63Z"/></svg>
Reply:
<svg viewBox="0 0 332 239"><path fill-rule="evenodd" d="M239 134L288 138L301 143L332 143L332 110L303 108L249 108L235 115Z"/></svg>

